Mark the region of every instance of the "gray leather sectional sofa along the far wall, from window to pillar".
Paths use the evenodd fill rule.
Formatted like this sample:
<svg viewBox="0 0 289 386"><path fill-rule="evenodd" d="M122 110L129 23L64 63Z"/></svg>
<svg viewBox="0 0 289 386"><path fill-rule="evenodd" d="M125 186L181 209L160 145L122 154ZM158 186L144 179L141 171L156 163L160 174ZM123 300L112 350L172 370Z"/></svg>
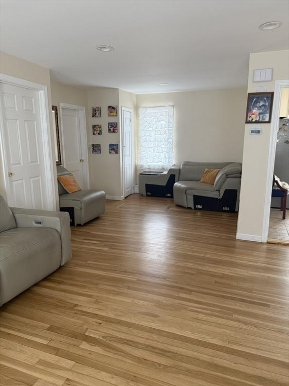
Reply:
<svg viewBox="0 0 289 386"><path fill-rule="evenodd" d="M221 169L213 185L200 182L205 169ZM235 212L239 209L242 164L237 162L190 162L172 166L156 175L140 174L143 196L172 197L176 205L198 210Z"/></svg>

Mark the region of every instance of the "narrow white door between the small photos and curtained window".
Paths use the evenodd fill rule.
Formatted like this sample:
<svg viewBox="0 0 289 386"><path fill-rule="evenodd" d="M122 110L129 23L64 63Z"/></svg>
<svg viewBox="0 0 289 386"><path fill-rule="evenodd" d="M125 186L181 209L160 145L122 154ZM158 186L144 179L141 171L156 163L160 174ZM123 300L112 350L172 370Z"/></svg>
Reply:
<svg viewBox="0 0 289 386"><path fill-rule="evenodd" d="M124 167L124 197L133 192L132 154L131 154L131 111L122 110L123 125L123 167Z"/></svg>

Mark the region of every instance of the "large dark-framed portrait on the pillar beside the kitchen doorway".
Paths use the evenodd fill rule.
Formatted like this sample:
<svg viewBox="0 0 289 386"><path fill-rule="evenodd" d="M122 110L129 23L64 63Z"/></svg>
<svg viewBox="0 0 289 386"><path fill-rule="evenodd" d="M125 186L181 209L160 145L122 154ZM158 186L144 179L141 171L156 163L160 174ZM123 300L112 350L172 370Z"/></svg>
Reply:
<svg viewBox="0 0 289 386"><path fill-rule="evenodd" d="M274 92L249 92L245 123L271 123Z"/></svg>

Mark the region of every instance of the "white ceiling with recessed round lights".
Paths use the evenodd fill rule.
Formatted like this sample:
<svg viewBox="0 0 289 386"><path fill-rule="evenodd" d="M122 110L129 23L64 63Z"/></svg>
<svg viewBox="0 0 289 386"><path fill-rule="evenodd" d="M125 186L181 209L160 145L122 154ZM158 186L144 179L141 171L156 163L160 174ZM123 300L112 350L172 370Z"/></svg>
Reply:
<svg viewBox="0 0 289 386"><path fill-rule="evenodd" d="M244 86L250 52L289 45L288 0L2 0L1 11L2 51L61 83L135 93ZM267 21L283 24L260 31Z"/></svg>

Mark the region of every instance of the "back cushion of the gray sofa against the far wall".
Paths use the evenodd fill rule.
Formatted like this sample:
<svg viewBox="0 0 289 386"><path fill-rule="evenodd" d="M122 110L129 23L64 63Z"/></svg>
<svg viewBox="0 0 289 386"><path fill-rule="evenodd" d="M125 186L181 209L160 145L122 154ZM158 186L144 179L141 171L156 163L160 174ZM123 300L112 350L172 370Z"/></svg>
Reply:
<svg viewBox="0 0 289 386"><path fill-rule="evenodd" d="M205 169L222 169L231 162L190 162L184 161L180 170L180 181L200 181Z"/></svg>

